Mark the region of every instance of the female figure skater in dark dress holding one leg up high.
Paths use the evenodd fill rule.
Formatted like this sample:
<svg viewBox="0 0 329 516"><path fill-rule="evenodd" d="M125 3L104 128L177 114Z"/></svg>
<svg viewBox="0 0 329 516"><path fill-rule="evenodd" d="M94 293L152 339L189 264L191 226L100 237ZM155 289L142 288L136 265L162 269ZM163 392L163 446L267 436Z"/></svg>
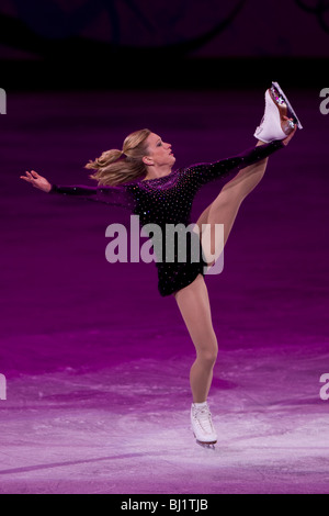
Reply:
<svg viewBox="0 0 329 516"><path fill-rule="evenodd" d="M204 250L204 239L207 238L212 256L218 256L223 243L222 249L215 248L215 224L224 224L225 245L241 202L265 172L268 157L288 144L297 126L302 128L286 97L277 83L272 83L265 92L264 116L254 133L258 144L238 156L172 170L175 158L171 145L162 142L156 133L141 130L126 137L122 150L104 152L86 166L94 170L90 177L98 181L98 187L50 184L34 170L26 171L26 176L21 178L52 194L80 195L125 206L139 215L141 225L154 223L164 228L169 223L188 226L191 205L200 188L239 170L196 221L200 233L194 236L197 235L201 250ZM202 233L202 224L211 228L206 237ZM217 358L217 339L204 281L205 270L213 263L206 253L198 261L193 261L188 254L186 260L179 262L175 253L174 261L156 262L159 292L162 296L173 295L195 346L196 359L190 373L193 395L191 424L196 440L206 446L217 441L207 404Z"/></svg>

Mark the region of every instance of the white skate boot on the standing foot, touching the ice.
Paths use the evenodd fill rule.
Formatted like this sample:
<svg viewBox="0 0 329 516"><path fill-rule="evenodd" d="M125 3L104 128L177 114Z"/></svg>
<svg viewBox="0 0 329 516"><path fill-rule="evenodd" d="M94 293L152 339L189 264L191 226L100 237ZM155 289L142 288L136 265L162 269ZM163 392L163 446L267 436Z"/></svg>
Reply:
<svg viewBox="0 0 329 516"><path fill-rule="evenodd" d="M192 403L191 424L197 444L212 447L217 442L217 435L207 402Z"/></svg>

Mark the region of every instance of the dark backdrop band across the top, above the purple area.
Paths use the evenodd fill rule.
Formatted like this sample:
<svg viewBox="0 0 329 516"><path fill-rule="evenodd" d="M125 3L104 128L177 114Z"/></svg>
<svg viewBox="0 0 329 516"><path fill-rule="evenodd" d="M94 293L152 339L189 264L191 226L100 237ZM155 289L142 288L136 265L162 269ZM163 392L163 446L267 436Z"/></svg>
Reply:
<svg viewBox="0 0 329 516"><path fill-rule="evenodd" d="M5 0L2 87L258 88L279 75L313 87L328 37L318 0Z"/></svg>

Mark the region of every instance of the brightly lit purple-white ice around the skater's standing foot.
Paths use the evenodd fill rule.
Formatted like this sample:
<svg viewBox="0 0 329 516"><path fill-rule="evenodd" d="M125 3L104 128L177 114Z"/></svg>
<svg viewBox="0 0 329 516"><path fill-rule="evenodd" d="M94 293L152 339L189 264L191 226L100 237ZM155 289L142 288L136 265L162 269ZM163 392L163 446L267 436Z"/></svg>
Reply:
<svg viewBox="0 0 329 516"><path fill-rule="evenodd" d="M168 357L166 341L162 359L12 379L1 405L1 493L328 492L329 402L319 397L328 343L222 349L213 451L190 429L192 355Z"/></svg>

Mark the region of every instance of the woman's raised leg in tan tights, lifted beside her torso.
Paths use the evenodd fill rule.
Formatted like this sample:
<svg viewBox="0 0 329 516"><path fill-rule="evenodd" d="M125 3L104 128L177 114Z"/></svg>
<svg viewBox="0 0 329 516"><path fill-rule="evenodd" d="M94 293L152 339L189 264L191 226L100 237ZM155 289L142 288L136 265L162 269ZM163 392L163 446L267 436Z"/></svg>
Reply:
<svg viewBox="0 0 329 516"><path fill-rule="evenodd" d="M263 142L259 141L257 145L263 145ZM225 245L227 242L241 202L264 176L268 160L269 158L265 158L241 169L234 179L225 184L217 198L196 221L204 249L211 249L211 254L216 257L215 260L223 251L223 244ZM203 234L202 224L208 224L207 231ZM215 224L224 224L224 243L219 243L219 246L215 240ZM217 244L217 248L215 248L215 244ZM209 260L209 265L213 265L215 260Z"/></svg>

